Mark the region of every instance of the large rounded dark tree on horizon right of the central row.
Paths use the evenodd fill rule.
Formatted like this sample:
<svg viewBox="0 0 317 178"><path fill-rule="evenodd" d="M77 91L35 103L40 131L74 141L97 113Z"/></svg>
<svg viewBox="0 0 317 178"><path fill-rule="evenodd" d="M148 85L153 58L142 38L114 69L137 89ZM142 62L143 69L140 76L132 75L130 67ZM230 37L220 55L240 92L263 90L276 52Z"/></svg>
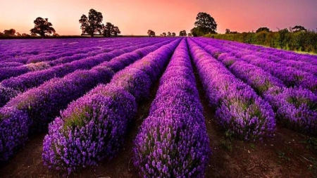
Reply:
<svg viewBox="0 0 317 178"><path fill-rule="evenodd" d="M216 33L217 23L209 13L198 13L196 20L194 25L197 27L196 31L199 31L197 34Z"/></svg>

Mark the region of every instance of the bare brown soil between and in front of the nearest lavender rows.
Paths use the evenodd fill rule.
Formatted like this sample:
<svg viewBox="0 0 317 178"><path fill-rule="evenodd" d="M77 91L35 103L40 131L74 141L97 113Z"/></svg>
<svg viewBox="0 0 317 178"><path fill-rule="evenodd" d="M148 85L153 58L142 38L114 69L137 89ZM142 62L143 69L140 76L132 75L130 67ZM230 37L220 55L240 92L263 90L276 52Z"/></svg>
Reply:
<svg viewBox="0 0 317 178"><path fill-rule="evenodd" d="M316 138L297 134L280 125L275 136L263 142L250 143L225 136L225 132L213 122L213 110L208 106L199 77L194 71L213 150L206 177L317 177ZM139 177L131 160L133 139L148 115L158 87L159 82L156 82L149 99L139 104L137 117L129 128L125 146L118 157L104 160L99 166L80 170L70 177ZM43 165L44 136L32 136L23 150L0 167L0 177L62 177L61 173L50 171Z"/></svg>

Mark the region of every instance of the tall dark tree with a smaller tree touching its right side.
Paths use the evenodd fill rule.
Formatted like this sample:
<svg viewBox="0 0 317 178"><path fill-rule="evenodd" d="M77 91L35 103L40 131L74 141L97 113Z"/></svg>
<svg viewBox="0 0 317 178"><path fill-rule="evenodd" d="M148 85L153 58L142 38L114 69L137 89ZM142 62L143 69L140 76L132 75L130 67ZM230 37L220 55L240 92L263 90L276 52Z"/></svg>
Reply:
<svg viewBox="0 0 317 178"><path fill-rule="evenodd" d="M82 34L89 34L91 37L94 37L95 33L101 34L101 31L103 30L103 25L101 25L101 22L103 20L102 13L90 9L88 13L88 18L86 15L82 14L82 17L79 20L80 29L82 30Z"/></svg>

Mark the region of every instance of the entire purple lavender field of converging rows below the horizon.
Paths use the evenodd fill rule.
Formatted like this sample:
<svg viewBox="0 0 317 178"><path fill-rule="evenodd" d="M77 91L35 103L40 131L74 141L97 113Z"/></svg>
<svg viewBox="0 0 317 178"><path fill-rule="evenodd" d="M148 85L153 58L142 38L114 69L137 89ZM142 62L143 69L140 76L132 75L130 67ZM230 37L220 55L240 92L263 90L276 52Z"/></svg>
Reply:
<svg viewBox="0 0 317 178"><path fill-rule="evenodd" d="M123 177L232 177L242 147L254 150L246 161L261 160L261 147L277 152L255 165L285 161L242 163L244 177L317 174L317 56L203 37L3 40L0 49L4 177L30 176L12 164L38 135L35 177L87 177L124 154ZM294 141L288 134L301 138L295 147L266 147Z"/></svg>

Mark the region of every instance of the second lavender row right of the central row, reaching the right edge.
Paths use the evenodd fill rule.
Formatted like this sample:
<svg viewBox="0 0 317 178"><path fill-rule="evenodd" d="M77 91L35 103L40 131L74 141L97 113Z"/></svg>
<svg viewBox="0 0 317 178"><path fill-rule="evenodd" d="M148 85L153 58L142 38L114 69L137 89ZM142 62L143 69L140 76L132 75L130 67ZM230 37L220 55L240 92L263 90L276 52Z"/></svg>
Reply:
<svg viewBox="0 0 317 178"><path fill-rule="evenodd" d="M213 56L216 56L218 61L226 65L235 77L249 84L268 101L273 106L276 118L282 125L298 132L317 135L316 94L309 89L302 88L302 86L290 87L287 83L279 80L278 76L274 76L268 70L265 70L266 68L254 65L254 61L246 61L244 56L237 58L237 56L232 55L237 51L227 49L227 53L219 54L218 52L223 50L223 46L217 42L213 45L209 45L211 42L209 44L201 43L199 40L196 40L196 42ZM261 63L266 63L265 58L260 60L262 60ZM283 70L283 68L280 70Z"/></svg>

